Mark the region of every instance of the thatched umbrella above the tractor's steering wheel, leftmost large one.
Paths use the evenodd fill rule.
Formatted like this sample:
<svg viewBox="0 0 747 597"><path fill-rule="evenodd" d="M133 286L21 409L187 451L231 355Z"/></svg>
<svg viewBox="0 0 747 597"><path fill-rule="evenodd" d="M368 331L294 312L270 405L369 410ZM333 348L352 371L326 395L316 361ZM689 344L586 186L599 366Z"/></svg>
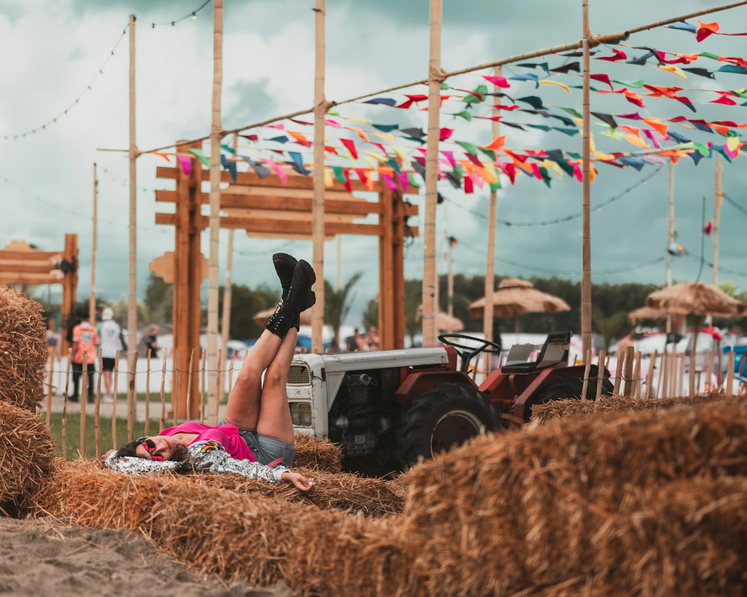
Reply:
<svg viewBox="0 0 747 597"><path fill-rule="evenodd" d="M469 306L472 319L480 319L485 313L485 297L478 298ZM493 316L513 317L518 334L518 316L524 313L559 313L571 307L562 298L536 290L531 282L518 278L506 278L493 293Z"/></svg>

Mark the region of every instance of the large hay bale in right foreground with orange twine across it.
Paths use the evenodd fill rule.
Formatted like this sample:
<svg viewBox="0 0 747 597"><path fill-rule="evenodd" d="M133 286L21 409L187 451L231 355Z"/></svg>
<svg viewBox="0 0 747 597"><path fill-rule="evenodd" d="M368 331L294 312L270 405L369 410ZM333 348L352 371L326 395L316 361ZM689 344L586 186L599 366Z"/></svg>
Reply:
<svg viewBox="0 0 747 597"><path fill-rule="evenodd" d="M412 470L403 532L430 533L434 548L415 567L430 570L433 594L549 587L593 576L594 539L610 515L630 510L631 487L747 475L745 454L747 404L595 414L480 437Z"/></svg>

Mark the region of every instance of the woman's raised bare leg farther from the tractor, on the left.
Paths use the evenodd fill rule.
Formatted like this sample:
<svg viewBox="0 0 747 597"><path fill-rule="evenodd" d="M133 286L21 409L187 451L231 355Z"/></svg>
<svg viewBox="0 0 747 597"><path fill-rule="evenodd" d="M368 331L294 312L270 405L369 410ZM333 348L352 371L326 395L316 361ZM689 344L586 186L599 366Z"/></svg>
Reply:
<svg viewBox="0 0 747 597"><path fill-rule="evenodd" d="M285 342L293 340L296 346L295 328L288 331ZM262 372L270 365L276 357L282 340L270 331L262 331L259 340L249 352L249 357L244 361L238 372L229 402L226 404L226 413L223 420L233 423L238 428L254 431L259 419L259 401L262 389Z"/></svg>

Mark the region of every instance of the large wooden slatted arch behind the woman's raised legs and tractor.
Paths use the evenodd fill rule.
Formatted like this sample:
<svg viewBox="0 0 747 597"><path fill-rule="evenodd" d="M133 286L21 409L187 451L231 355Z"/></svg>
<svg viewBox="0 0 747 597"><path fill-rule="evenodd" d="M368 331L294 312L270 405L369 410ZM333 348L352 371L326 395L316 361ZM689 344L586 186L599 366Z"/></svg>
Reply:
<svg viewBox="0 0 747 597"><path fill-rule="evenodd" d="M187 155L179 146L177 155ZM173 225L176 230L175 251L167 252L150 263L155 275L174 284L173 328L174 351L178 353L175 370L187 371L192 348L199 347L200 300L199 287L207 277L207 259L200 249L199 234L208 228L208 216L201 206L209 204L209 193L201 186L203 171L197 160L190 160L190 172L179 164L159 166L156 177L176 182L175 190L157 190L155 200L172 203L174 213L156 213L155 223ZM296 238L311 240L311 205L313 180L288 173L284 183L277 175L260 178L254 172L238 172L236 181L229 172L221 172L221 181L229 186L220 192L220 228L241 229L258 237ZM378 194L378 201L353 196L351 191ZM379 239L379 335L381 348L403 348L405 338L404 243L406 234L417 235L415 228L406 231L406 218L418 215L418 207L403 201L402 194L391 190L382 181L365 187L350 181L350 190L333 181L325 190L325 234L331 240L337 234L353 234ZM370 214L378 216L376 223L356 223L354 220ZM321 281L317 281L317 284ZM187 415L187 383L180 381L178 416L197 416L199 380L193 372L190 413ZM212 413L211 413L212 414Z"/></svg>

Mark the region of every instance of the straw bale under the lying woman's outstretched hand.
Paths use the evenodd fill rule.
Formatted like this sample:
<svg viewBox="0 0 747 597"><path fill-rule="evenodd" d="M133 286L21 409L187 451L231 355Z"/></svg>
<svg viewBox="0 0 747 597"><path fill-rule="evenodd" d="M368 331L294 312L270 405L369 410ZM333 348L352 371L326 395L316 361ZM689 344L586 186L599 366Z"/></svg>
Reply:
<svg viewBox="0 0 747 597"><path fill-rule="evenodd" d="M383 479L360 477L349 472L298 469L296 466L293 470L313 477L316 481L314 491L301 493L289 483L270 484L238 475L197 473L184 475L184 478L203 487L313 504L321 510L347 510L365 516L387 516L401 513L404 508L403 496L390 488Z"/></svg>

